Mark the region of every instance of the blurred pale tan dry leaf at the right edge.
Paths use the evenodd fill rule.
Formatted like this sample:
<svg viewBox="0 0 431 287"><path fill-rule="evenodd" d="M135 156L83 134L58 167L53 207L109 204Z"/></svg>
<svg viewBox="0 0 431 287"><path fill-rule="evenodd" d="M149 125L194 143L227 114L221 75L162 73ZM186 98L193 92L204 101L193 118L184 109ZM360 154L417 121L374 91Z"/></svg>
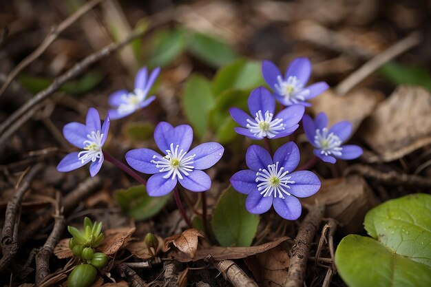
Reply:
<svg viewBox="0 0 431 287"><path fill-rule="evenodd" d="M381 160L397 160L431 143L431 94L399 86L366 121L363 137Z"/></svg>

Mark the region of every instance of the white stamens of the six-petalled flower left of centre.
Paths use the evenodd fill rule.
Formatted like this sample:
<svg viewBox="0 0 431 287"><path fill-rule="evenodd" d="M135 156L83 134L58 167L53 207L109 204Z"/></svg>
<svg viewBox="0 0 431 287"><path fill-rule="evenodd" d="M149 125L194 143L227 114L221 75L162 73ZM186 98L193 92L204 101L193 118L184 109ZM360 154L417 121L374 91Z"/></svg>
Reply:
<svg viewBox="0 0 431 287"><path fill-rule="evenodd" d="M167 172L163 178L172 176L172 180L176 177L182 180L182 175L189 176L189 172L193 171L195 168L192 164L196 154L186 157L187 151L184 151L184 149L178 151L179 145L176 145L174 149L174 143L171 143L170 147L170 150L166 150L166 156L153 156L153 158L158 158L158 160L151 160L151 162L156 164L156 167L160 168L159 172Z"/></svg>

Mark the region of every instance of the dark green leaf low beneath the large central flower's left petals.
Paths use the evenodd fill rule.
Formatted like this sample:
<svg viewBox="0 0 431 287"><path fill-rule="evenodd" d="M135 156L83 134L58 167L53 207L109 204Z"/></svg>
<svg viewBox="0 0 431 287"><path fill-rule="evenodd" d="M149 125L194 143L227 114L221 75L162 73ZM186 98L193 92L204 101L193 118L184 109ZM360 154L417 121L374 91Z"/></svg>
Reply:
<svg viewBox="0 0 431 287"><path fill-rule="evenodd" d="M121 209L135 220L146 220L156 215L170 197L170 195L151 197L143 185L116 191L114 196Z"/></svg>

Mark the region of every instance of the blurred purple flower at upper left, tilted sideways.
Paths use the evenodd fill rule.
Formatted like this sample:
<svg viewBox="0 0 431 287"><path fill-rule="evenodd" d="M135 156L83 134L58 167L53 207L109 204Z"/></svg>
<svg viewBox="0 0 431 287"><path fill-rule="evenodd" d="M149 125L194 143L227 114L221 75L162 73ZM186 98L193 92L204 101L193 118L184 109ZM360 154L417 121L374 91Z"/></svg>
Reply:
<svg viewBox="0 0 431 287"><path fill-rule="evenodd" d="M156 81L159 72L160 67L157 67L151 72L148 78L147 67L143 67L136 73L135 89L133 92L120 89L112 93L111 96L109 96L109 105L112 105L115 109L109 110L111 119L116 120L118 118L124 118L138 109L147 107L147 105L156 98L156 96L147 98L147 94L153 86L154 81Z"/></svg>

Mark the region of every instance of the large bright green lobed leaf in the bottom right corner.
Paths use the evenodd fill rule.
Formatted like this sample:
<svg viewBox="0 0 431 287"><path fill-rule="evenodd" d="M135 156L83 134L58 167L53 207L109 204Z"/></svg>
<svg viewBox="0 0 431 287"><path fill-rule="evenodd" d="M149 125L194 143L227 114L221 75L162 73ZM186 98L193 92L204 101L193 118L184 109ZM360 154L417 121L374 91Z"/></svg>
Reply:
<svg viewBox="0 0 431 287"><path fill-rule="evenodd" d="M335 252L348 286L431 286L431 195L380 204L367 213L364 225L372 238L348 235Z"/></svg>

